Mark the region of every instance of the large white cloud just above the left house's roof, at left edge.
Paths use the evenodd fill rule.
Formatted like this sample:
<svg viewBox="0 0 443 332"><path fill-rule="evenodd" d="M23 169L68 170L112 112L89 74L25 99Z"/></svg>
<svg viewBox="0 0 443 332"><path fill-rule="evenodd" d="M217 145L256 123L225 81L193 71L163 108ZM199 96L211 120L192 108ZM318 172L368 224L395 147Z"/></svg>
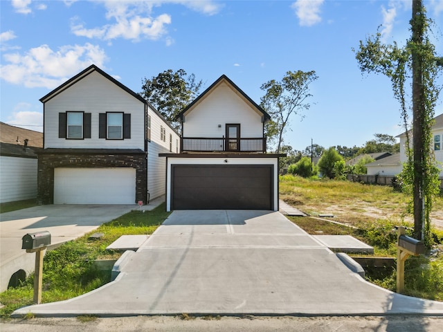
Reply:
<svg viewBox="0 0 443 332"><path fill-rule="evenodd" d="M27 88L53 89L67 78L91 64L102 67L107 59L105 51L92 44L67 45L54 51L48 45L31 48L24 55L3 54L0 78Z"/></svg>

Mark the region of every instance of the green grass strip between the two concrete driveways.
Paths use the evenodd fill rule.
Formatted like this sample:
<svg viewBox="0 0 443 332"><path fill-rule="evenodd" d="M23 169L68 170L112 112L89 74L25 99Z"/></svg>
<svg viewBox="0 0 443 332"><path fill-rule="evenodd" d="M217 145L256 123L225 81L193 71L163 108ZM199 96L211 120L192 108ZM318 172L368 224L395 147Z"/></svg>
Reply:
<svg viewBox="0 0 443 332"><path fill-rule="evenodd" d="M85 234L75 241L46 252L43 264L42 303L62 301L88 293L110 281L110 271L102 272L94 265L95 259L118 259L120 252L106 250L122 235L152 234L163 223L170 212L162 204L153 211L132 211L104 223L97 230ZM102 232L96 240L89 236ZM33 275L17 288L0 293L0 317L8 317L12 311L33 304Z"/></svg>

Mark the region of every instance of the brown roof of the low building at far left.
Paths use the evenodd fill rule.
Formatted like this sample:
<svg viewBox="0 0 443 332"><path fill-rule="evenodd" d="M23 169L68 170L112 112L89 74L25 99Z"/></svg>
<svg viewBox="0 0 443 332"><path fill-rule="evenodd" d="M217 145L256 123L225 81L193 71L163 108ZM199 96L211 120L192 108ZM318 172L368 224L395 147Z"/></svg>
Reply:
<svg viewBox="0 0 443 332"><path fill-rule="evenodd" d="M42 132L0 122L0 142L23 147L25 140L28 140L28 147L43 147Z"/></svg>

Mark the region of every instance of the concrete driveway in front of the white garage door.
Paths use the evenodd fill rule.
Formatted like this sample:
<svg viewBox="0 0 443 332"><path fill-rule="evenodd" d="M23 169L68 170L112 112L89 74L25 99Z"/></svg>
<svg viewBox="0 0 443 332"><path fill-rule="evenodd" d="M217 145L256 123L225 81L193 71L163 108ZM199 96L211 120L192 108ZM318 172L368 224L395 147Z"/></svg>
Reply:
<svg viewBox="0 0 443 332"><path fill-rule="evenodd" d="M10 277L18 270L34 270L35 254L21 249L27 233L48 230L51 243L62 243L95 230L137 205L39 205L0 214L0 291L8 288Z"/></svg>

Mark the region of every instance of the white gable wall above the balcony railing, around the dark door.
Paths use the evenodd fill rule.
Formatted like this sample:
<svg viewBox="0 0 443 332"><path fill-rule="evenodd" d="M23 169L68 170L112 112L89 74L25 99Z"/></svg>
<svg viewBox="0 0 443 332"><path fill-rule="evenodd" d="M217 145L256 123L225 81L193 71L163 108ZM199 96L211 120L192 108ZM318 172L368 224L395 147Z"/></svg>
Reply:
<svg viewBox="0 0 443 332"><path fill-rule="evenodd" d="M262 114L222 82L185 116L183 137L221 138L226 123L239 123L242 138L263 137Z"/></svg>

